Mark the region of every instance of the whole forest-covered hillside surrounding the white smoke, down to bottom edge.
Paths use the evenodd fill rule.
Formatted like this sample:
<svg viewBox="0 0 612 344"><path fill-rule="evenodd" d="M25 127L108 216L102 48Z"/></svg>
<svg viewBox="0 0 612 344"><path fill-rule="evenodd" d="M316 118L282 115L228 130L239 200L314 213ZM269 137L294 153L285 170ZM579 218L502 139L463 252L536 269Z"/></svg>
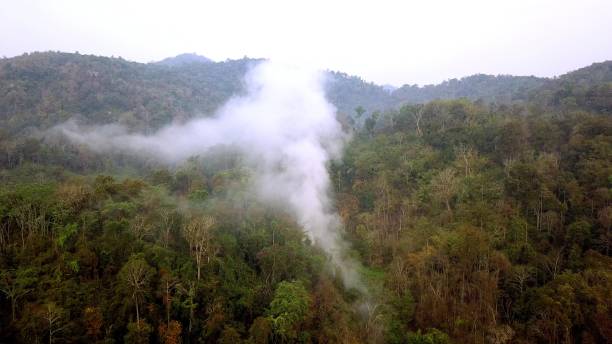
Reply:
<svg viewBox="0 0 612 344"><path fill-rule="evenodd" d="M31 129L81 116L146 132L218 106L247 65L0 61L0 341L612 341L609 63L520 102L364 101L329 170L365 306L243 192L236 153L167 168Z"/></svg>

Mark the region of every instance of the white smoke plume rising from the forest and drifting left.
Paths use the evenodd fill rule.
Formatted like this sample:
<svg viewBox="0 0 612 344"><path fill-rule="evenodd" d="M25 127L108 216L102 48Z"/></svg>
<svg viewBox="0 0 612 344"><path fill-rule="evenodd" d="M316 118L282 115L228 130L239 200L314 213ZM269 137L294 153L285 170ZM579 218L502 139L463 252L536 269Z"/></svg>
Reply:
<svg viewBox="0 0 612 344"><path fill-rule="evenodd" d="M346 287L365 293L356 263L345 257L341 222L330 199L327 163L340 157L346 135L325 98L324 74L270 61L245 77L246 95L230 99L210 118L171 125L152 135L118 125L60 130L96 151L144 154L181 162L224 144L240 150L255 171L262 201L284 204L310 239L329 255Z"/></svg>

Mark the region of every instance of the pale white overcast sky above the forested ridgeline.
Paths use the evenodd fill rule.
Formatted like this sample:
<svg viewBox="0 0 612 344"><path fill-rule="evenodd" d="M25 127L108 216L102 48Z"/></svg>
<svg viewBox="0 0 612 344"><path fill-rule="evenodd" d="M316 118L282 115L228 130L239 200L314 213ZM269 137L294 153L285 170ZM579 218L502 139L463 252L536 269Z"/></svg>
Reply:
<svg viewBox="0 0 612 344"><path fill-rule="evenodd" d="M612 0L0 0L0 56L46 50L267 57L398 86L553 76L612 59Z"/></svg>

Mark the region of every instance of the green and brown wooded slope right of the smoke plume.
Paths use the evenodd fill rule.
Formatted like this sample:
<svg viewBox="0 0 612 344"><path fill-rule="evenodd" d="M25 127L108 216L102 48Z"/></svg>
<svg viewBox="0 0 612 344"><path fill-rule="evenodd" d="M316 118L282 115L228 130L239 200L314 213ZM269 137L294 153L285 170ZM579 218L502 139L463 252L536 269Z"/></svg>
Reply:
<svg viewBox="0 0 612 344"><path fill-rule="evenodd" d="M609 116L452 100L379 121L335 172L354 247L384 272L389 341L611 340Z"/></svg>

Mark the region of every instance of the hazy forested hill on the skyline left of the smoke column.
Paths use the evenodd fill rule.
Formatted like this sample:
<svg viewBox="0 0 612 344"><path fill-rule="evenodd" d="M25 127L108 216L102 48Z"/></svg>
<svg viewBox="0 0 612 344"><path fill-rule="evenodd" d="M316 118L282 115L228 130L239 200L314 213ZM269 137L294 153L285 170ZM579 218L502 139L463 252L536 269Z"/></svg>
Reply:
<svg viewBox="0 0 612 344"><path fill-rule="evenodd" d="M257 60L192 63L173 68L68 53L0 60L0 126L19 132L68 118L120 122L135 130L212 113L242 89Z"/></svg>

